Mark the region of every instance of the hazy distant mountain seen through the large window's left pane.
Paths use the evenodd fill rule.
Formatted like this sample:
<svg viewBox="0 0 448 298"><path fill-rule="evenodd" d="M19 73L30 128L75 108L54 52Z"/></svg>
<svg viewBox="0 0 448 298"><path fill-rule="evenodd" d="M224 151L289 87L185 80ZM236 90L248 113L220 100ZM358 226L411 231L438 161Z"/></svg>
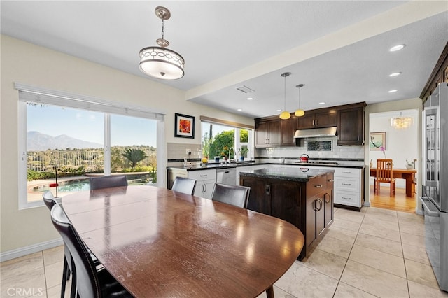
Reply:
<svg viewBox="0 0 448 298"><path fill-rule="evenodd" d="M74 139L66 134L61 134L60 136L49 136L48 134L41 134L40 132L27 132L28 151L45 151L47 149L66 148L103 148L103 145Z"/></svg>

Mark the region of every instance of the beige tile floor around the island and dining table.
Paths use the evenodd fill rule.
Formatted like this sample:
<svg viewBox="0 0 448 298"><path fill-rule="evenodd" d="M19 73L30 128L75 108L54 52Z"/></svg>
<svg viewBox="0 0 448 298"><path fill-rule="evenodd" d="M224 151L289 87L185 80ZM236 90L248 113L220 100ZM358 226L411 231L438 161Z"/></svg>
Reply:
<svg viewBox="0 0 448 298"><path fill-rule="evenodd" d="M423 232L416 214L336 208L311 255L275 283L275 297L448 297L426 257ZM59 246L0 263L0 297L60 297L63 257Z"/></svg>

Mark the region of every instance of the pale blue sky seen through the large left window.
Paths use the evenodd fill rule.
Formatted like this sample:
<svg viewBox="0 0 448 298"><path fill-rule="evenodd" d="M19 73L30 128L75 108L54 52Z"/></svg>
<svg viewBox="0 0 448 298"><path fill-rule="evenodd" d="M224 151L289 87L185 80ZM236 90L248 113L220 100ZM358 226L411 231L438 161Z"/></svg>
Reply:
<svg viewBox="0 0 448 298"><path fill-rule="evenodd" d="M157 122L125 115L111 115L111 145L156 147ZM104 143L104 116L101 112L50 105L27 105L27 132L50 136L66 134L75 139Z"/></svg>

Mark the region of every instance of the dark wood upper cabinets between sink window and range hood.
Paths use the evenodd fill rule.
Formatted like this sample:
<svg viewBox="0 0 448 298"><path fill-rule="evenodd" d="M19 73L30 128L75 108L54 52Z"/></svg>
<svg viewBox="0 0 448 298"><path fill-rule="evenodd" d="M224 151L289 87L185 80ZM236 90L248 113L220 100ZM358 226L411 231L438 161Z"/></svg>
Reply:
<svg viewBox="0 0 448 298"><path fill-rule="evenodd" d="M255 147L295 146L296 118L281 120L278 116L255 119Z"/></svg>

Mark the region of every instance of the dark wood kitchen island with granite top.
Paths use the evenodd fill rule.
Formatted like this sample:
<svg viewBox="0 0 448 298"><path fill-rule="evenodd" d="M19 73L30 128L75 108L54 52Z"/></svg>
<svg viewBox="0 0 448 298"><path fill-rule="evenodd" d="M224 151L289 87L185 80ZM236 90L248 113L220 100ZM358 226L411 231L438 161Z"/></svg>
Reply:
<svg viewBox="0 0 448 298"><path fill-rule="evenodd" d="M333 172L299 167L241 171L239 184L251 187L248 209L286 220L305 236L298 260L333 222Z"/></svg>

